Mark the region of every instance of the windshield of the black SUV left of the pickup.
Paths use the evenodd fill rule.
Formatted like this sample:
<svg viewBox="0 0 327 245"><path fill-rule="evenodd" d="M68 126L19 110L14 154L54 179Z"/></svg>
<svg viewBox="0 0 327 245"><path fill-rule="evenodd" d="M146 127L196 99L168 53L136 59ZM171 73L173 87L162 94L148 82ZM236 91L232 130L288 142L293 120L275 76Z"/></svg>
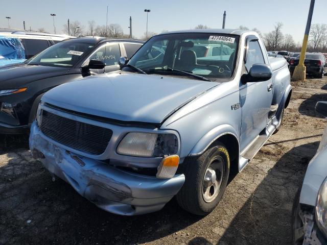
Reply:
<svg viewBox="0 0 327 245"><path fill-rule="evenodd" d="M83 54L88 53L94 47L85 42L59 42L43 52L32 57L27 64L71 67L81 60Z"/></svg>

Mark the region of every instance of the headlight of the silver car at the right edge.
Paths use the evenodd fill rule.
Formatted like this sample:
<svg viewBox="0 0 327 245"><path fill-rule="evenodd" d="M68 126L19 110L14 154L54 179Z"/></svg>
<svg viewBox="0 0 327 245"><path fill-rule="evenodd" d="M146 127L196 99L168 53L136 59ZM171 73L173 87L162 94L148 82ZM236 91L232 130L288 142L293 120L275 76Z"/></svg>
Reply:
<svg viewBox="0 0 327 245"><path fill-rule="evenodd" d="M327 235L327 178L322 182L318 191L316 220L320 230Z"/></svg>

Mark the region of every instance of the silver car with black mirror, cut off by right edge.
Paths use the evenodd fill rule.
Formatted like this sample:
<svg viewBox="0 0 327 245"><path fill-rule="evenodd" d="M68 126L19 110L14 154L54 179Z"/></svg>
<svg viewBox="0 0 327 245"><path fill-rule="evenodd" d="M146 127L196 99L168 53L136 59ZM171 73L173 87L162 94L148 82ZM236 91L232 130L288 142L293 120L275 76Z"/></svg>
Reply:
<svg viewBox="0 0 327 245"><path fill-rule="evenodd" d="M327 117L327 102L318 102L316 112ZM316 155L309 162L292 211L293 244L327 244L327 127Z"/></svg>

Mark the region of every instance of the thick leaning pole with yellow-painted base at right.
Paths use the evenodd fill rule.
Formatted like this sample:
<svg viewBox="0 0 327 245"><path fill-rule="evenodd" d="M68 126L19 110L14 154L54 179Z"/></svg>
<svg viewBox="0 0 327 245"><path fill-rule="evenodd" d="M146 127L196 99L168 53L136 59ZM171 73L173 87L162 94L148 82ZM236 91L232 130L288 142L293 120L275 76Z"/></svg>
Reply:
<svg viewBox="0 0 327 245"><path fill-rule="evenodd" d="M294 81L301 80L306 81L306 71L307 67L304 65L306 52L307 52L307 44L308 44L308 37L311 27L311 19L313 14L313 8L315 6L315 0L311 0L310 8L309 8L309 14L308 14L308 20L307 20L307 26L305 31L305 37L303 38L302 48L301 48L301 55L300 55L300 61L298 62L298 65L295 66L292 79Z"/></svg>

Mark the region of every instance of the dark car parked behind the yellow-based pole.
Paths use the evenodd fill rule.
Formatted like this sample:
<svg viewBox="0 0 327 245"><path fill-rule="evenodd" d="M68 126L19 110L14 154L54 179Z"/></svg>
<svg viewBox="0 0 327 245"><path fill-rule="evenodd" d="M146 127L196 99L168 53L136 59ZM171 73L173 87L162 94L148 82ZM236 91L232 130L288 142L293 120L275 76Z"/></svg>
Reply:
<svg viewBox="0 0 327 245"><path fill-rule="evenodd" d="M296 59L290 60L290 71L293 74L295 66L298 65L300 56ZM307 74L316 76L317 78L323 78L323 75L327 72L327 61L322 54L307 53L305 57L305 66L307 67Z"/></svg>

